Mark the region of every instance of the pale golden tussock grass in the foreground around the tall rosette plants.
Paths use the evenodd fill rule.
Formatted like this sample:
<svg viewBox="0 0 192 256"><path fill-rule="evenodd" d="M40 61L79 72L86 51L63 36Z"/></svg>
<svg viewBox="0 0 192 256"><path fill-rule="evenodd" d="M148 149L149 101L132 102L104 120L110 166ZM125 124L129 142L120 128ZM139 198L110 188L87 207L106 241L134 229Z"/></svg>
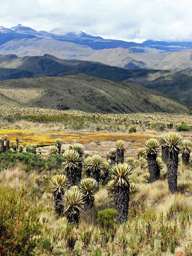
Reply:
<svg viewBox="0 0 192 256"><path fill-rule="evenodd" d="M99 146L97 150L102 151L103 144ZM112 143L107 143L105 146L105 149L107 149L107 146L111 147ZM91 147L93 149L92 144L90 145ZM77 236L78 240L72 255L77 255L76 250L79 250L81 252L80 255L84 256L97 255L94 254L95 250L100 250L98 255L114 256L157 255L157 252L161 253L160 255L162 256L171 256L176 255L179 251L184 253L186 246L192 242L191 221L190 219L183 219L183 214L185 212L191 214L192 209L192 195L186 193L186 191L192 192L192 179L188 178L191 170L191 167L187 167L178 174L178 186L182 187L183 190L179 191L176 195L169 194L167 180L160 179L152 184L146 184L138 179L139 191L131 196L128 221L124 225L118 226L114 240L108 242L103 240L104 237L96 222L96 218L98 211L113 207L113 199L109 198L106 189L100 186L100 190L95 195L94 208L81 213L79 226L73 230L73 234ZM137 171L138 167L135 169L135 173ZM67 247L66 240L64 239L67 223L65 217L59 218L54 211L53 197L48 185L51 175L52 173L47 170L43 170L41 173L37 171L26 172L22 170L22 165L18 165L14 169L2 171L0 173L0 182L8 183L10 187L16 185L29 188L32 194L36 193L33 191L36 191L37 188L43 188L43 191L37 194L38 196L33 194L33 199L31 198L31 200L35 200L34 204L39 209L39 222L42 224L41 236L44 239L51 239L50 243L52 248L54 248L54 252L62 252L61 255L64 256L68 255L68 252L65 251ZM133 174L131 178L135 180L135 177L137 175ZM47 180L46 183L43 183L44 179ZM164 227L168 225L171 228L170 230L172 230L169 232L172 232L172 236L177 240L174 254L170 251L170 244L167 245L166 251L162 252L160 249L161 238L166 240L170 236L170 234L166 235L166 232L164 234L161 231L162 213ZM91 230L91 238L86 252L82 249L81 235L88 229ZM143 239L142 241L140 240L141 238ZM153 241L152 238L154 239L154 245L151 242ZM124 250L127 250L127 253ZM138 253L136 253L137 251ZM50 252L46 252L45 249L37 252L41 256L50 255Z"/></svg>

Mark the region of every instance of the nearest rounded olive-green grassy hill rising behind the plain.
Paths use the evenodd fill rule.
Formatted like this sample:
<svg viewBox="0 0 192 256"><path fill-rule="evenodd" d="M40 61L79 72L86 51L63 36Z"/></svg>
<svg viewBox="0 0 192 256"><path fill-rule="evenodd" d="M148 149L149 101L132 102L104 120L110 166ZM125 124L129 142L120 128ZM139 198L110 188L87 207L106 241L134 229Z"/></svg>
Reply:
<svg viewBox="0 0 192 256"><path fill-rule="evenodd" d="M2 80L0 92L29 107L72 108L100 113L192 111L191 104L143 86L84 74Z"/></svg>

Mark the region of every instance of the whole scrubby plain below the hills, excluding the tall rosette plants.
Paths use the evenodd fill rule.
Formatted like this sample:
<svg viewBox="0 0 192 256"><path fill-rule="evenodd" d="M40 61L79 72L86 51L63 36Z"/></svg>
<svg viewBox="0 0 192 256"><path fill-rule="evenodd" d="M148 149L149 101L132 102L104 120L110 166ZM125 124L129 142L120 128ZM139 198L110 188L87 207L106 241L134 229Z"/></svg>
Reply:
<svg viewBox="0 0 192 256"><path fill-rule="evenodd" d="M5 141L5 135L10 140L10 150L0 154L2 256L192 255L192 157L185 165L179 156L177 193L174 194L169 192L166 164L161 162L160 176L148 183L148 159L138 158L138 148L147 150L146 140L159 140L162 132L176 132L182 123L187 131L179 133L183 140L190 140L190 115L32 111L12 108L6 112L0 108L0 134ZM19 138L18 150L14 148L16 137ZM55 144L57 138L62 139L62 143L57 140ZM84 145L82 179L85 179L86 157L100 155L104 161L108 160L108 152L116 147L116 140L124 140L124 160L132 161L129 182L135 187L129 194L127 221L119 223L113 215L115 210L110 210L115 205L114 194L106 185L113 177L108 167L107 179L103 179L100 172L93 207L86 210L83 207L79 222L69 223L66 212L56 211L50 183L55 175L66 172L62 162L66 161L68 148L73 148L74 143ZM58 154L59 143L61 154ZM53 144L57 146L53 148ZM161 150L158 157L161 158ZM108 212L102 215L101 211L106 209Z"/></svg>

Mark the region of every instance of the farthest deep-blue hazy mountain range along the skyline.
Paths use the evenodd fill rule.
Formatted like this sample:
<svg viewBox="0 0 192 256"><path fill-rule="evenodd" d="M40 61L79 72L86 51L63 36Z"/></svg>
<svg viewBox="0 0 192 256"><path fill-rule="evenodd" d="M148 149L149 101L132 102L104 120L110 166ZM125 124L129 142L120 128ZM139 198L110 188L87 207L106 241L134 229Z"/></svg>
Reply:
<svg viewBox="0 0 192 256"><path fill-rule="evenodd" d="M57 35L43 30L36 31L35 29L22 26L21 24L18 24L11 29L4 28L3 26L0 27L0 45L14 39L19 40L34 37L51 38L59 41L87 45L94 50L122 47L124 49L131 49L132 52L144 53L148 52L147 47L169 52L192 49L192 42L164 42L146 40L145 42L139 44L114 39L103 39L100 36L92 36L84 33L83 31L79 31L78 34L75 32L67 32L63 35Z"/></svg>

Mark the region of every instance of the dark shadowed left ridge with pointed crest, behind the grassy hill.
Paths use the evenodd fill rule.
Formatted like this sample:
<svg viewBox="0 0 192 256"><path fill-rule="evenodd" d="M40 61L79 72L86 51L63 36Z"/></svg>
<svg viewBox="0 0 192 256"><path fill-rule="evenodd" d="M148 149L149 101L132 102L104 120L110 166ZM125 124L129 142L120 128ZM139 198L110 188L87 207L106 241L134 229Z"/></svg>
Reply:
<svg viewBox="0 0 192 256"><path fill-rule="evenodd" d="M12 56L12 55L10 55ZM51 55L12 58L0 55L0 68L21 69L36 73L36 76L61 76L84 73L104 79L123 81L130 78L134 71L111 67L99 62L83 60L60 60Z"/></svg>

